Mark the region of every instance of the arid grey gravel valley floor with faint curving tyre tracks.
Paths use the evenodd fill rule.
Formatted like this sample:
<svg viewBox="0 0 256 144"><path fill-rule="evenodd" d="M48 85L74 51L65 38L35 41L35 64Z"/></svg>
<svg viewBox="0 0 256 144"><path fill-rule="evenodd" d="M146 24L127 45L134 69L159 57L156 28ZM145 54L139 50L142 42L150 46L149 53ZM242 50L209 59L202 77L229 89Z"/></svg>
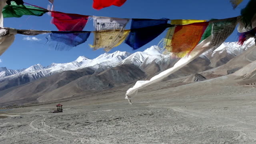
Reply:
<svg viewBox="0 0 256 144"><path fill-rule="evenodd" d="M256 88L233 74L138 92L114 88L60 102L2 110L1 144L255 144ZM179 85L179 84L178 84ZM6 118L7 117L7 118Z"/></svg>

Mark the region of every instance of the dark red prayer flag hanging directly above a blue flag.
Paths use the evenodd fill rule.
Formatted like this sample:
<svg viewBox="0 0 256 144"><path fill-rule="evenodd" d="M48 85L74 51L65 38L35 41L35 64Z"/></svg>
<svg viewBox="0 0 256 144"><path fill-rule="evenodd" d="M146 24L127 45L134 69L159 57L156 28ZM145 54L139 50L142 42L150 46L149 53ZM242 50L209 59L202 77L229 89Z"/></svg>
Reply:
<svg viewBox="0 0 256 144"><path fill-rule="evenodd" d="M59 31L82 31L89 16L52 11L52 24Z"/></svg>

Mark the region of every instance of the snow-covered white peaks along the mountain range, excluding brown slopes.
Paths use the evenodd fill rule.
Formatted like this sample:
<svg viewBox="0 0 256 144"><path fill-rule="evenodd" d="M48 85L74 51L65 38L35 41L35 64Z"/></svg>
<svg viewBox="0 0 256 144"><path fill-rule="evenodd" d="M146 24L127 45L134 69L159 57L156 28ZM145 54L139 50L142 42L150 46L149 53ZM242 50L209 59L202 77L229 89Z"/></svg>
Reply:
<svg viewBox="0 0 256 144"><path fill-rule="evenodd" d="M211 52L210 50L202 54L200 57L210 59L216 57L216 54L222 54L226 56L236 56L244 52L248 47L254 44L254 38L247 40L243 46L236 44L236 42L223 43L219 48ZM54 73L62 72L65 70L77 70L80 68L92 68L94 70L105 70L106 68L115 67L122 64L134 64L136 66L147 66L153 61L155 63L169 60L168 56L163 55L158 46L151 46L150 48L144 50L143 52L135 52L133 54L129 52L120 52L116 51L112 54L104 53L94 59L88 59L84 56L79 56L76 60L69 63L57 64L52 63L49 66L42 66L36 64L30 66L25 70L9 70L7 68L0 68L0 81L10 80L17 78L19 76L26 75L28 78L31 77L31 80L35 80L40 77L50 76ZM214 61L214 66L220 65L216 60ZM29 81L29 80L28 80Z"/></svg>

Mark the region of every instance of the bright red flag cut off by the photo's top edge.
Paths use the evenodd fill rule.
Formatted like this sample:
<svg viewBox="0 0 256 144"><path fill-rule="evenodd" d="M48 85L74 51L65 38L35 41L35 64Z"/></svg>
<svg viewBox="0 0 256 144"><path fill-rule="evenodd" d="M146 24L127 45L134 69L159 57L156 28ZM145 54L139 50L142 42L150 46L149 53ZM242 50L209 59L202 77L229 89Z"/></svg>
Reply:
<svg viewBox="0 0 256 144"><path fill-rule="evenodd" d="M122 6L126 0L93 0L92 7L96 10L106 8L108 6Z"/></svg>

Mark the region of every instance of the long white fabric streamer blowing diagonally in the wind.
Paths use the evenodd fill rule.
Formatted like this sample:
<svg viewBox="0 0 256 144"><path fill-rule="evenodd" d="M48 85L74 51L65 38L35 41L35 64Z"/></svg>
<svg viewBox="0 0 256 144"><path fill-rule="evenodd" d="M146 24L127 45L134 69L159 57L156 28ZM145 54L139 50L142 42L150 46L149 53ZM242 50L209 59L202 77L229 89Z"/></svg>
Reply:
<svg viewBox="0 0 256 144"><path fill-rule="evenodd" d="M159 82L160 80L162 80L162 79L166 78L167 76L169 76L170 74L176 72L183 66L186 66L186 64L188 64L189 62L191 62L192 60L194 60L195 58L200 56L205 51L213 48L214 46L210 44L212 39L213 39L213 36L211 35L208 38L206 38L205 40L203 40L202 42L200 42L200 44L198 44L194 48L194 50L190 53L190 55L188 57L184 57L184 58L180 59L176 64L174 64L174 66L172 68L169 68L169 69L161 72L160 74L152 77L150 80L137 81L136 84L132 88L127 90L125 99L128 99L129 103L132 104L132 99L134 98L134 96L137 95L138 90L140 90L150 84Z"/></svg>

